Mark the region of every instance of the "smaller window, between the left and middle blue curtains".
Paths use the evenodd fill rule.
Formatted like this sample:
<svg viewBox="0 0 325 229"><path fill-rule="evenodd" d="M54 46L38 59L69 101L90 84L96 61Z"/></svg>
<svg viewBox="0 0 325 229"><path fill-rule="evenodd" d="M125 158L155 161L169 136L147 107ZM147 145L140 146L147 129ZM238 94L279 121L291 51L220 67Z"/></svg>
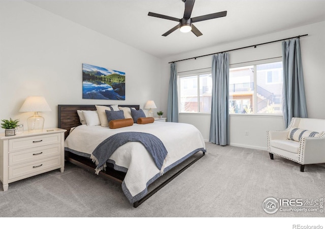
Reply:
<svg viewBox="0 0 325 229"><path fill-rule="evenodd" d="M179 112L211 112L212 77L210 72L181 75L178 84Z"/></svg>

